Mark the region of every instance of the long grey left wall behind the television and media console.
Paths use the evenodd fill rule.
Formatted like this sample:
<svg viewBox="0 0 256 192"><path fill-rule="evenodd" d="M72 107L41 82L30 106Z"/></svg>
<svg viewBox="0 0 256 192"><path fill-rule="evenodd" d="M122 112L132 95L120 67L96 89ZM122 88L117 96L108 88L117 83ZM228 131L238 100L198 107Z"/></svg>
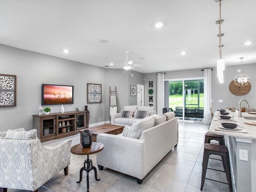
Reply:
<svg viewBox="0 0 256 192"><path fill-rule="evenodd" d="M130 85L143 84L144 75L132 73L133 77L121 69L105 69L0 44L0 74L17 76L17 106L0 108L0 131L33 128L32 115L38 114L42 84L73 85L74 104L64 105L65 111L74 111L76 107L84 110L88 105L90 124L105 122L109 120L110 86L117 86L119 110L134 104ZM87 83L102 84L102 103L87 104ZM54 113L60 112L61 106L48 107Z"/></svg>

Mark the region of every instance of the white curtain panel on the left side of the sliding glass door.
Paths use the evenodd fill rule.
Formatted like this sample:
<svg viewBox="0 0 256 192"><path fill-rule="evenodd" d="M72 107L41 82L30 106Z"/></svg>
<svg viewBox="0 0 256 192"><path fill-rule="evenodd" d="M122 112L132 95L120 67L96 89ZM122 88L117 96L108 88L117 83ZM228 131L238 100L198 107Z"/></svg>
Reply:
<svg viewBox="0 0 256 192"><path fill-rule="evenodd" d="M164 73L157 74L157 114L162 115L164 108Z"/></svg>

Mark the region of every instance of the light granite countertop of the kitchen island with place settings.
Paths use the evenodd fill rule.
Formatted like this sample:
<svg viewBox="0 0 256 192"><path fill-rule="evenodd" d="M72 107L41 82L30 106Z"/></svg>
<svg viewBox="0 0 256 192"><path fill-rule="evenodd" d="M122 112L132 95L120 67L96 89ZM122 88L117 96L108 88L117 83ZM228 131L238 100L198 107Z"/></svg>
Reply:
<svg viewBox="0 0 256 192"><path fill-rule="evenodd" d="M234 116L234 121L224 121L224 120L219 120L218 113L215 112L208 132L210 134L256 139L256 126L244 124L244 122L256 122L256 115L248 114L247 112L242 112L242 116L255 117L255 120L248 120L243 117L239 118L238 116L235 116L235 112L231 112L231 114ZM240 130L224 130L224 129L218 128L218 126L223 122L237 123L239 124L238 128L240 128Z"/></svg>

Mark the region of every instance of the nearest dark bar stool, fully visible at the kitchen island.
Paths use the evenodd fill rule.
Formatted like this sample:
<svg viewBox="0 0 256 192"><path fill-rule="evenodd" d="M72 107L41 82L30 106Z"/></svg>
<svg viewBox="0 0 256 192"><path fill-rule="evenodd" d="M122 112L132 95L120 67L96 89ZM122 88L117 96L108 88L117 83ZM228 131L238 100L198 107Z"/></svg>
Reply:
<svg viewBox="0 0 256 192"><path fill-rule="evenodd" d="M216 169L212 169L212 168L208 168L207 167L210 155L218 155L218 156L222 157L222 164L223 164L223 167L224 167L224 171L216 170ZM227 177L228 183L221 182L221 181L218 181L218 180L213 180L213 179L210 179L210 178L206 178L206 170L207 169L221 171L221 172L226 172L226 177ZM228 148L227 148L227 146L216 145L216 144L209 144L209 143L205 143L204 144L204 156L203 156L203 166L202 166L202 180L201 180L201 188L200 188L201 191L203 190L204 181L206 179L212 180L212 181L216 181L216 182L220 182L220 183L224 183L224 184L228 184L229 191L233 192L232 181L231 181L231 171L230 171L230 161L229 161L229 155L228 155Z"/></svg>

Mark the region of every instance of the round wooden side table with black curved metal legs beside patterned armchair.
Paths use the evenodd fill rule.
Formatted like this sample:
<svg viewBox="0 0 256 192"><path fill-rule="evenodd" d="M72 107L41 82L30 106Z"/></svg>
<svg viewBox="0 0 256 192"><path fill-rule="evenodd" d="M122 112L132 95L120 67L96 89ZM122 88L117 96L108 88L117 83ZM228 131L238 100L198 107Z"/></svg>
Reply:
<svg viewBox="0 0 256 192"><path fill-rule="evenodd" d="M87 179L87 192L89 192L89 172L90 170L94 170L94 177L96 181L100 179L97 178L97 170L96 167L92 166L92 160L89 159L90 154L98 153L102 151L104 145L99 142L92 142L92 145L88 148L84 148L82 144L77 144L71 147L71 153L76 155L87 155L87 159L84 160L84 166L80 169L80 179L77 183L82 181L83 171L86 171L86 179Z"/></svg>

